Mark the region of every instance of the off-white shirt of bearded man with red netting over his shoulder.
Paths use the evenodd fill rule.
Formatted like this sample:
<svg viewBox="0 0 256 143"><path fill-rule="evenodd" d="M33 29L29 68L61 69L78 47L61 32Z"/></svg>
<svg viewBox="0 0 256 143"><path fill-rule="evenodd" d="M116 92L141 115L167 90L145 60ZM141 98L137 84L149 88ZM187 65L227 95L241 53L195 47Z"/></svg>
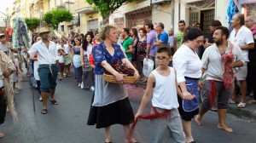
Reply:
<svg viewBox="0 0 256 143"><path fill-rule="evenodd" d="M225 53L230 52L230 43L229 47L226 49ZM232 53L235 55L234 62L242 60L242 52L241 49L233 44ZM223 73L224 73L224 66L221 60L221 54L218 51L217 45L214 43L212 46L208 47L203 56L202 62L204 69L207 70L207 80L217 80L222 82Z"/></svg>

